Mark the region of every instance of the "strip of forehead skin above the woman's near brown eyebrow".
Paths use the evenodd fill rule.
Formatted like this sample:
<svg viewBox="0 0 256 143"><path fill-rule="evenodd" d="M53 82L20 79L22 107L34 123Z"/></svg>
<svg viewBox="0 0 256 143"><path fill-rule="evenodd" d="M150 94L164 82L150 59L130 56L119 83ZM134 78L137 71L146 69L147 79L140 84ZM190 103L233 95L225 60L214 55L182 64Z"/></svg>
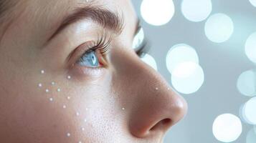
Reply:
<svg viewBox="0 0 256 143"><path fill-rule="evenodd" d="M29 0L29 5L34 14L47 19L60 21L66 14L72 13L75 8L86 5L100 6L123 16L124 21L136 21L136 13L130 0ZM30 11L31 12L31 11Z"/></svg>

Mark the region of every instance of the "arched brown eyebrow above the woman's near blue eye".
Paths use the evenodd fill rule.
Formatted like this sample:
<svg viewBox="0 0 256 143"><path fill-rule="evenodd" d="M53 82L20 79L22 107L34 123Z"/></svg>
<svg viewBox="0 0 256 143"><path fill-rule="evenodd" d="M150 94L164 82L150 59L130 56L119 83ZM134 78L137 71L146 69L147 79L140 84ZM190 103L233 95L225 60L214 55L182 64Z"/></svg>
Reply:
<svg viewBox="0 0 256 143"><path fill-rule="evenodd" d="M92 19L97 22L103 28L107 28L120 34L123 30L123 16L118 13L114 13L108 9L103 9L100 6L84 6L75 9L75 12L65 16L57 30L49 37L47 41L51 41L54 36L60 34L60 32L67 28L67 26L74 24L82 19Z"/></svg>

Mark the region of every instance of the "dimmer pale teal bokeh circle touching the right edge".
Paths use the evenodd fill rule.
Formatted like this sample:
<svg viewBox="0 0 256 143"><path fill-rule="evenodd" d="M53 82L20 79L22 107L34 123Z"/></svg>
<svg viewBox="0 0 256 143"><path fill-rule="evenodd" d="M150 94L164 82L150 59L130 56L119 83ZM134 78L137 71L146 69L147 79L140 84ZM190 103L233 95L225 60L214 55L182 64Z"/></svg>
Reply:
<svg viewBox="0 0 256 143"><path fill-rule="evenodd" d="M256 72L253 70L245 71L237 79L237 89L247 97L256 95Z"/></svg>

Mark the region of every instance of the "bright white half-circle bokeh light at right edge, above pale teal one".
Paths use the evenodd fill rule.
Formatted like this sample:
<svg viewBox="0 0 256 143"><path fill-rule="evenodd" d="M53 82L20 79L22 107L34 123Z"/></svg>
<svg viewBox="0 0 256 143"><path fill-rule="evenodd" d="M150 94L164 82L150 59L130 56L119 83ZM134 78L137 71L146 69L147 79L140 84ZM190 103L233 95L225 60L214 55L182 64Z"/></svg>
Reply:
<svg viewBox="0 0 256 143"><path fill-rule="evenodd" d="M256 32L248 37L245 43L245 54L256 64Z"/></svg>

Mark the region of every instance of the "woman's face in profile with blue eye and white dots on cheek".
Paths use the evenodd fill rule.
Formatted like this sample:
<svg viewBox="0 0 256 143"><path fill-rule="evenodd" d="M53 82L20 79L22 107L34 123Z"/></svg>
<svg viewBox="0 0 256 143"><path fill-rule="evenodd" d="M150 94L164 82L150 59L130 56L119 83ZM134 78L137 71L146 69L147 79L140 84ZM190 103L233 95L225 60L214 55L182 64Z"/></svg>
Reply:
<svg viewBox="0 0 256 143"><path fill-rule="evenodd" d="M10 1L1 142L155 143L184 117L184 99L133 49L131 1Z"/></svg>

